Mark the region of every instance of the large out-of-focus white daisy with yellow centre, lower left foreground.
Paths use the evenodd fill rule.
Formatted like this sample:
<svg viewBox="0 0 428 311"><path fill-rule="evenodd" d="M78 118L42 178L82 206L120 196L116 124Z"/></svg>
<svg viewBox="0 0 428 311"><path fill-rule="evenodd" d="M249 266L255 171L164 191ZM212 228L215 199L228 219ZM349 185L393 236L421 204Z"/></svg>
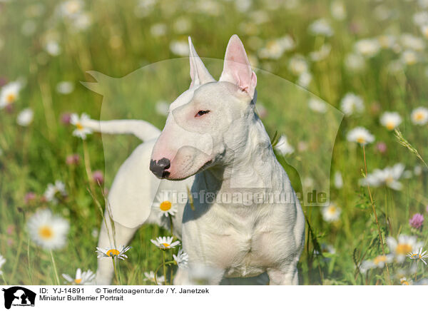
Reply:
<svg viewBox="0 0 428 311"><path fill-rule="evenodd" d="M53 250L66 245L68 220L52 214L51 210L38 210L27 221L32 240L42 248Z"/></svg>

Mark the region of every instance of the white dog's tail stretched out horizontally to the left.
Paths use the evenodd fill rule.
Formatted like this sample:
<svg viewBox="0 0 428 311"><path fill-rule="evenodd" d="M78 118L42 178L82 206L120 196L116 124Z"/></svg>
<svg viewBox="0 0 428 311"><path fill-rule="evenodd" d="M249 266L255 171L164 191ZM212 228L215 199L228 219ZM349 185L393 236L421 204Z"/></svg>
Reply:
<svg viewBox="0 0 428 311"><path fill-rule="evenodd" d="M161 134L161 130L156 126L143 120L97 121L87 119L82 121L82 126L106 134L132 134L142 141L149 141Z"/></svg>

